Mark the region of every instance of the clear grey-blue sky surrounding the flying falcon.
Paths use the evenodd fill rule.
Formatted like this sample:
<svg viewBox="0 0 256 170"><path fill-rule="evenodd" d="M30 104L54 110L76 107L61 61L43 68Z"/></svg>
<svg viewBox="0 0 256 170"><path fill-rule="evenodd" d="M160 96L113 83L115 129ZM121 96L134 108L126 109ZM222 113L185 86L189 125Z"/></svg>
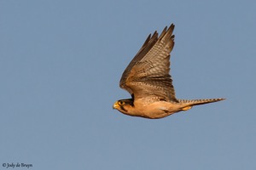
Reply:
<svg viewBox="0 0 256 170"><path fill-rule="evenodd" d="M113 110L171 23L177 98L226 100L159 120ZM256 169L255 32L253 0L1 0L0 169Z"/></svg>

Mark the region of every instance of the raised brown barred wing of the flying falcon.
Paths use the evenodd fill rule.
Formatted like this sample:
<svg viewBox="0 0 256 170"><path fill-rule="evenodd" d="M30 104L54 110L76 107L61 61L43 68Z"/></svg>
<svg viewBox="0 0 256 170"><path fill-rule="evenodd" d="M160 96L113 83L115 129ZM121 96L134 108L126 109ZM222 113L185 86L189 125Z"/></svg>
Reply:
<svg viewBox="0 0 256 170"><path fill-rule="evenodd" d="M170 71L170 53L174 46L172 24L158 37L154 31L148 36L143 47L138 51L125 69L119 82L135 99L154 98L166 101L177 101L172 86Z"/></svg>

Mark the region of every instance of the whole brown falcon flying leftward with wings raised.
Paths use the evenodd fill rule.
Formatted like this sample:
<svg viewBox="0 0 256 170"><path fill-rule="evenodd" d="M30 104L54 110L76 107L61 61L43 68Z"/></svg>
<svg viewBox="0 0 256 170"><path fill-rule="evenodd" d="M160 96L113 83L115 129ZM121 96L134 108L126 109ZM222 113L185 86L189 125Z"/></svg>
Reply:
<svg viewBox="0 0 256 170"><path fill-rule="evenodd" d="M113 104L125 115L158 119L178 111L188 111L194 105L204 105L220 99L177 99L172 86L170 53L174 46L172 24L158 37L154 31L149 34L143 47L137 52L125 69L119 82L131 94L131 99L120 99Z"/></svg>

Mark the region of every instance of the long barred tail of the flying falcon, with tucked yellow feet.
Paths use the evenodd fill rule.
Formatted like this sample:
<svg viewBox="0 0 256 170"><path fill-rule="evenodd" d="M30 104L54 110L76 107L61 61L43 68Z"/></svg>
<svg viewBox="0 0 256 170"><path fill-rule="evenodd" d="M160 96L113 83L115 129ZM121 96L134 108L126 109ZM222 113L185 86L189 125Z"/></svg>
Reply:
<svg viewBox="0 0 256 170"><path fill-rule="evenodd" d="M204 105L213 102L218 102L224 100L224 98L219 99L177 99L179 103L183 104L183 111L188 111L193 105Z"/></svg>

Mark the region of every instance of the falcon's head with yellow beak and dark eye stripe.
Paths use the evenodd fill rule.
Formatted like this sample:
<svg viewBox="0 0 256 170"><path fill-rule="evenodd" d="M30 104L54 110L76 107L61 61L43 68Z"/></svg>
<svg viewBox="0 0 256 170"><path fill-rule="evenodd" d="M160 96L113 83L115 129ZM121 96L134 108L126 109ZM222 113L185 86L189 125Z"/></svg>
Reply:
<svg viewBox="0 0 256 170"><path fill-rule="evenodd" d="M116 109L124 114L129 115L129 111L133 108L133 99L119 99L113 104L113 109Z"/></svg>

